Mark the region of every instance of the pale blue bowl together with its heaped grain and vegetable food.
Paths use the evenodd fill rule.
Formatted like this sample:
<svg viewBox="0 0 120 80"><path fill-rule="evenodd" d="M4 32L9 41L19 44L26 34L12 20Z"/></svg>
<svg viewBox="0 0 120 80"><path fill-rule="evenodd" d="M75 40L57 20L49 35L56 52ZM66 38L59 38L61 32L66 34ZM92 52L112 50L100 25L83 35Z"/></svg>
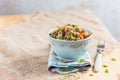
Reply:
<svg viewBox="0 0 120 80"><path fill-rule="evenodd" d="M63 60L76 61L89 49L93 32L74 24L49 31L51 51Z"/></svg>

